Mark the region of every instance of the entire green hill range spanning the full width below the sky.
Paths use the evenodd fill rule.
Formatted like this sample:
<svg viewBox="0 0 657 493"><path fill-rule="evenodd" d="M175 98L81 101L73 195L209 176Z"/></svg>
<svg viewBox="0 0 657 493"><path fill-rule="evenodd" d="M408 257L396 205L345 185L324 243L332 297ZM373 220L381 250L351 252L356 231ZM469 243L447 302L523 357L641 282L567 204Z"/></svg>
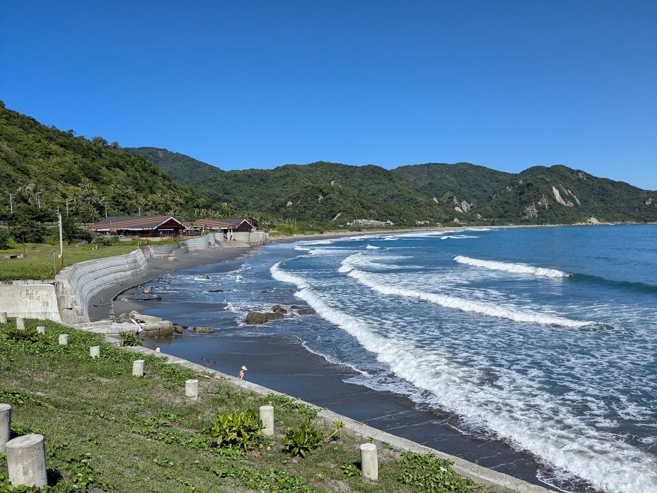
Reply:
<svg viewBox="0 0 657 493"><path fill-rule="evenodd" d="M11 206L45 218L67 203L82 222L99 220L105 209L110 216L183 220L230 211L316 229L354 219L398 226L657 222L656 191L565 166L509 174L469 163L386 170L320 161L222 171L166 149L126 150L103 137L43 126L0 101L0 220L10 218Z"/></svg>

